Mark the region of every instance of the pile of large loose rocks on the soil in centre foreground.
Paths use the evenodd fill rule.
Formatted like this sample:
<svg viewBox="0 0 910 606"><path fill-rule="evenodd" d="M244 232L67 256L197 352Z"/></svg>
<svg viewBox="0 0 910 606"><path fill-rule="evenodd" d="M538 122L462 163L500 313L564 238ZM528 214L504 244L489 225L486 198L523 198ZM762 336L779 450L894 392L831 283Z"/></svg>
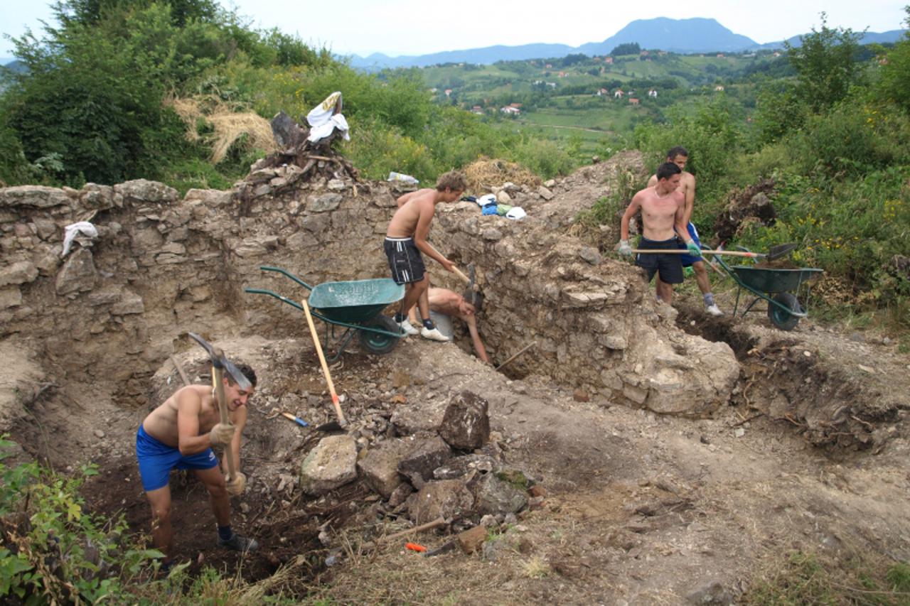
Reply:
<svg viewBox="0 0 910 606"><path fill-rule="evenodd" d="M415 524L445 520L466 530L511 520L540 504L531 474L511 468L499 440L490 439L489 404L470 391L454 396L433 432L376 440L329 436L300 466L310 497L362 479L382 499L377 513ZM495 438L495 435L494 435Z"/></svg>

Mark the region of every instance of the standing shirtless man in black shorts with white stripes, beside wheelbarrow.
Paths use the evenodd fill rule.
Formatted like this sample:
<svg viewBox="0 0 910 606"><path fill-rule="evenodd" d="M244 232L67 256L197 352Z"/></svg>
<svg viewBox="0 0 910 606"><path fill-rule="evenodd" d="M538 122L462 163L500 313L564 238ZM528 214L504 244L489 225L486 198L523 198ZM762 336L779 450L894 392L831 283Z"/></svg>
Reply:
<svg viewBox="0 0 910 606"><path fill-rule="evenodd" d="M398 284L407 285L401 309L395 314L395 321L401 330L409 335L420 332L423 338L437 341L448 341L430 319L430 300L427 291L430 288L430 275L423 265L423 253L435 259L448 271L452 269L449 259L440 255L427 240L430 234L430 222L440 202L454 202L461 197L467 187L464 175L452 170L442 175L436 182L436 188L426 187L405 194L398 199L398 210L389 221L386 240L383 248L389 258L389 269L392 279ZM408 321L408 310L414 305L420 309L423 326L418 331Z"/></svg>

